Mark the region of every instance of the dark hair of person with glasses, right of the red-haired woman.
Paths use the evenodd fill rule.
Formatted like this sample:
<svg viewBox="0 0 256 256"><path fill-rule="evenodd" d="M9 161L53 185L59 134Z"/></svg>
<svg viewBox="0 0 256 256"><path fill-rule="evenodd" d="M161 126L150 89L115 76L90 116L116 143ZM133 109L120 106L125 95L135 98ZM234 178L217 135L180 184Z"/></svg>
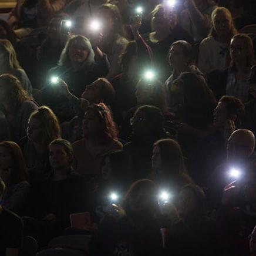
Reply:
<svg viewBox="0 0 256 256"><path fill-rule="evenodd" d="M136 110L134 116L140 112L142 112L144 116L146 116L146 119L150 120L151 125L154 126L154 138L152 138L154 142L166 137L166 130L164 130L164 116L159 107L149 105L141 106ZM134 135L136 136L136 134Z"/></svg>

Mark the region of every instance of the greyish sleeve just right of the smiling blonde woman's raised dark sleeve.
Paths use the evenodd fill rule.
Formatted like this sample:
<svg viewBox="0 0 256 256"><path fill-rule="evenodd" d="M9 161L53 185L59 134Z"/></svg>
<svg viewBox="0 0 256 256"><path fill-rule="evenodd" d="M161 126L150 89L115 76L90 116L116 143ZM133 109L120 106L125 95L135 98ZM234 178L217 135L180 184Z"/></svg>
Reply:
<svg viewBox="0 0 256 256"><path fill-rule="evenodd" d="M122 43L116 43L113 46L114 52L112 56L112 61L110 62L109 73L106 76L107 79L113 78L120 72L122 53L126 49L126 46L127 41L123 41Z"/></svg>

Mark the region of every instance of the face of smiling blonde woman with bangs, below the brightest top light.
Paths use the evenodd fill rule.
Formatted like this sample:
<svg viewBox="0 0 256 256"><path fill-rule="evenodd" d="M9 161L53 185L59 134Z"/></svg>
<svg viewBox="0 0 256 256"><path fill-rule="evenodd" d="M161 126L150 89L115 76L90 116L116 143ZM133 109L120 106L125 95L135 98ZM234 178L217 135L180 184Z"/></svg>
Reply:
<svg viewBox="0 0 256 256"><path fill-rule="evenodd" d="M85 44L76 39L70 43L68 54L72 63L79 63L81 65L88 56Z"/></svg>

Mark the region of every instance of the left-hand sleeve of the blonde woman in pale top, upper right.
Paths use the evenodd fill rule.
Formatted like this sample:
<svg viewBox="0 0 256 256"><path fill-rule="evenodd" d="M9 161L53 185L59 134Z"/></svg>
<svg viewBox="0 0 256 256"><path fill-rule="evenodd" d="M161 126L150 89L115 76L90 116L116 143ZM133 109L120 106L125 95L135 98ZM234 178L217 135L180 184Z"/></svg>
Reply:
<svg viewBox="0 0 256 256"><path fill-rule="evenodd" d="M197 66L201 72L207 74L211 72L211 59L209 56L209 45L207 41L202 41L199 46L198 63Z"/></svg>

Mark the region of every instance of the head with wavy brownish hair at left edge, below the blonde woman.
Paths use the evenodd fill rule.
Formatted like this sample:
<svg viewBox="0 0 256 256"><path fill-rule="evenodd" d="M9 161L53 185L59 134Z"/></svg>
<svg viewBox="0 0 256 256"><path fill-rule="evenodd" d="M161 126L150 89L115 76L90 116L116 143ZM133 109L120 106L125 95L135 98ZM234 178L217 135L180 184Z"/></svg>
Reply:
<svg viewBox="0 0 256 256"><path fill-rule="evenodd" d="M0 75L0 102L5 102L9 113L16 113L22 102L31 100L21 82L10 74Z"/></svg>

